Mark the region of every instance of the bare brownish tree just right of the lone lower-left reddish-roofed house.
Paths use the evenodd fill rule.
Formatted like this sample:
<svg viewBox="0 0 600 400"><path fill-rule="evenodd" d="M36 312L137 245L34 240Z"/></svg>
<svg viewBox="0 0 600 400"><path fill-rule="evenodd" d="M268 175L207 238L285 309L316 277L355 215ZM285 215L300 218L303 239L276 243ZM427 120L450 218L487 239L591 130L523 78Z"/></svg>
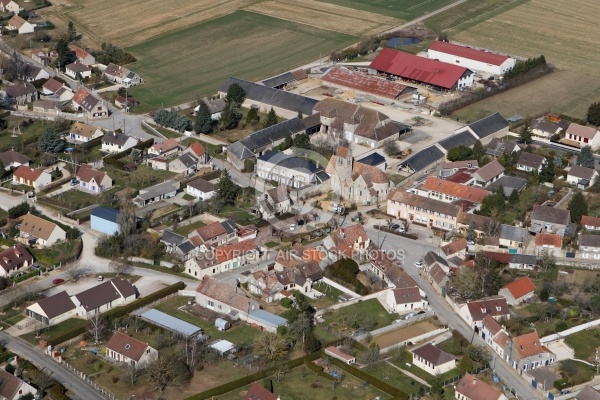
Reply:
<svg viewBox="0 0 600 400"><path fill-rule="evenodd" d="M160 354L147 365L146 374L149 385L161 393L169 386L184 385L192 376L180 357Z"/></svg>

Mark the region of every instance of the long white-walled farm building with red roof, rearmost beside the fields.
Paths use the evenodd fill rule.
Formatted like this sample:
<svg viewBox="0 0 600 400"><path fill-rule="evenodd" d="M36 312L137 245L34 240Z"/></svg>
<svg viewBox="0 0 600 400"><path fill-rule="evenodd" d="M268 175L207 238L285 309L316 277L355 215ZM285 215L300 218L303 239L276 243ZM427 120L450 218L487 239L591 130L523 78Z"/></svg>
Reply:
<svg viewBox="0 0 600 400"><path fill-rule="evenodd" d="M517 62L512 57L440 41L433 42L429 46L427 55L434 60L493 75L502 75Z"/></svg>

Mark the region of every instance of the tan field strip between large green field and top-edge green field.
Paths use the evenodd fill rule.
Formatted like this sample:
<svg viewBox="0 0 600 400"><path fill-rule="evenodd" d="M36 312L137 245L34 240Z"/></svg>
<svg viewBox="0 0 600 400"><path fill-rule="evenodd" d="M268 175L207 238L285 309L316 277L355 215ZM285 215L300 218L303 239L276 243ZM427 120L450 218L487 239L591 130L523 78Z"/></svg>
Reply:
<svg viewBox="0 0 600 400"><path fill-rule="evenodd" d="M396 18L315 0L265 1L246 10L355 36L373 35L402 23Z"/></svg>

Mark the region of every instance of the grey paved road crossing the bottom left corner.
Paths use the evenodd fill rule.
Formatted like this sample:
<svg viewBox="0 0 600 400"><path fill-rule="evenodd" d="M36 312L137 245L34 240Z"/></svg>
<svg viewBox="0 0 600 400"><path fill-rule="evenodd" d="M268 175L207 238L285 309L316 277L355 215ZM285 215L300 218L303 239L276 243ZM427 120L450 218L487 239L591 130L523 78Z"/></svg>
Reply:
<svg viewBox="0 0 600 400"><path fill-rule="evenodd" d="M71 370L65 368L63 365L50 359L50 357L44 355L41 349L37 347L31 347L29 343L24 342L19 338L14 338L7 335L4 332L0 332L0 340L6 343L6 348L15 354L31 361L41 371L50 373L52 378L60 382L65 388L72 391L75 396L71 396L72 399L85 399L85 400L103 400L96 390L79 379Z"/></svg>

